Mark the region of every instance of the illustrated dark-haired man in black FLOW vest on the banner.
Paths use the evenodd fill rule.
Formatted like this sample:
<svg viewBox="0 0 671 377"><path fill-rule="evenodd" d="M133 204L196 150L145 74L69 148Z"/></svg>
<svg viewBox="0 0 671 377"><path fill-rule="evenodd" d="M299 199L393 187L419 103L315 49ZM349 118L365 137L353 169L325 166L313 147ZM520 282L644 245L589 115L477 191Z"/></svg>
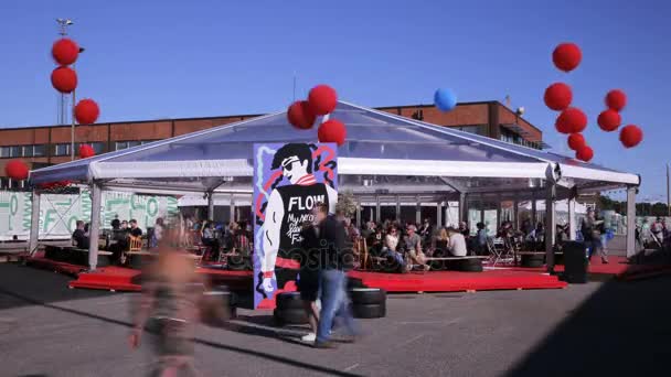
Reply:
<svg viewBox="0 0 671 377"><path fill-rule="evenodd" d="M330 154L330 159L322 159L321 152ZM315 161L315 155L320 161ZM291 255L300 248L302 224L313 222L315 205L326 203L331 212L336 211L338 192L333 182L333 157L334 151L330 147L322 146L319 150L317 146L307 143L285 144L273 157L270 170L276 179L263 217L258 255L260 271L256 287L264 298L271 297L276 287L284 289L288 281L296 279L299 265ZM316 173L323 173L323 182L318 182ZM286 181L288 183L280 184Z"/></svg>

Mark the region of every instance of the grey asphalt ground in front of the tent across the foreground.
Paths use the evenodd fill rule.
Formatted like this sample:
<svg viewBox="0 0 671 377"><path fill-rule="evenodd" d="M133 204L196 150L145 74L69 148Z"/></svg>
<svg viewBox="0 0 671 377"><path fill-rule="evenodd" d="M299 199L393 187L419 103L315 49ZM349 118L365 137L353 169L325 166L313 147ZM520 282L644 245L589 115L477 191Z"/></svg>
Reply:
<svg viewBox="0 0 671 377"><path fill-rule="evenodd" d="M70 290L70 278L0 263L0 376L146 376L128 347L137 293ZM563 290L394 294L387 316L337 349L300 343L269 312L200 326L204 376L668 376L671 277Z"/></svg>

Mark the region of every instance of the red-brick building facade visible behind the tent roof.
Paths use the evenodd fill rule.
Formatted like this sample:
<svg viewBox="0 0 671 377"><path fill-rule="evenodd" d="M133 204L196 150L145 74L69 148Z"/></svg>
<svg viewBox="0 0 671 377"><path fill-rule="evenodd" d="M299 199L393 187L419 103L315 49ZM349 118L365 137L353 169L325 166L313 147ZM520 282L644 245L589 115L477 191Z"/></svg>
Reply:
<svg viewBox="0 0 671 377"><path fill-rule="evenodd" d="M544 147L542 131L499 101L464 103L449 112L441 112L433 105L392 106L377 109L531 148ZM76 126L75 157L81 143L90 144L96 154L100 154L257 116L259 115ZM0 129L0 190L22 190L26 186L25 182L13 181L6 176L4 164L12 159L23 159L31 169L71 161L71 126Z"/></svg>

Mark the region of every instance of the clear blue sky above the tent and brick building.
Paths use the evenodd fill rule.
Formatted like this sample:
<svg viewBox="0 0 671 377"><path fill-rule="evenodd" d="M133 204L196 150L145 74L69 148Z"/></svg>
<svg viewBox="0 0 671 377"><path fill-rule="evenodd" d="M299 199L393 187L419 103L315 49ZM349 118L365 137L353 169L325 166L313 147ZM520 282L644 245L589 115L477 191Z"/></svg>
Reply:
<svg viewBox="0 0 671 377"><path fill-rule="evenodd" d="M62 17L87 49L77 93L100 104L100 121L281 110L296 72L299 97L327 83L364 106L429 104L438 87L460 101L510 95L568 152L542 98L564 80L589 117L595 162L640 173L641 200L665 195L668 1L2 1L0 14L0 127L56 121ZM551 62L564 41L583 49L571 74ZM642 127L639 148L596 126L611 88L629 96L622 120Z"/></svg>

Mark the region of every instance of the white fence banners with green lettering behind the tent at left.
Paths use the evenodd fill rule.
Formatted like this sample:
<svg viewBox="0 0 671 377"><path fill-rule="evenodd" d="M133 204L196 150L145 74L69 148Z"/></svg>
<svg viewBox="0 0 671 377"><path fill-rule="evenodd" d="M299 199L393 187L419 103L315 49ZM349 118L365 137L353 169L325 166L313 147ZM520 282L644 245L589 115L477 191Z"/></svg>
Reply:
<svg viewBox="0 0 671 377"><path fill-rule="evenodd" d="M158 217L169 218L178 213L178 200L171 196L136 195L124 192L103 192L100 224L111 228L111 220L138 220L142 229L153 227ZM40 239L67 239L77 220L90 222L90 192L79 195L40 195ZM0 240L30 236L32 196L30 192L0 191Z"/></svg>

